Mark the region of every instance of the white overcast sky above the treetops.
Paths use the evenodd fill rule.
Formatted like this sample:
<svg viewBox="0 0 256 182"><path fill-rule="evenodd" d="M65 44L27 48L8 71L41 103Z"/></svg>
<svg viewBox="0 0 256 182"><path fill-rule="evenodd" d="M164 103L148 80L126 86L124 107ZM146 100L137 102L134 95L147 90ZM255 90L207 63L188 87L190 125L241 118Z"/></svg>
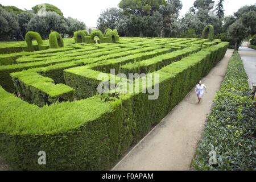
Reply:
<svg viewBox="0 0 256 182"><path fill-rule="evenodd" d="M16 6L19 9L31 10L35 5L42 3L49 3L59 7L65 17L71 16L86 24L86 26L96 27L97 19L101 12L109 7L118 7L118 3L121 0L0 0L0 4L3 6ZM180 16L185 15L190 7L193 6L195 0L181 0L183 3L183 9L180 11ZM218 0L216 0L217 2ZM256 0L225 0L224 9L225 15L232 15L240 7L244 5L254 5Z"/></svg>

